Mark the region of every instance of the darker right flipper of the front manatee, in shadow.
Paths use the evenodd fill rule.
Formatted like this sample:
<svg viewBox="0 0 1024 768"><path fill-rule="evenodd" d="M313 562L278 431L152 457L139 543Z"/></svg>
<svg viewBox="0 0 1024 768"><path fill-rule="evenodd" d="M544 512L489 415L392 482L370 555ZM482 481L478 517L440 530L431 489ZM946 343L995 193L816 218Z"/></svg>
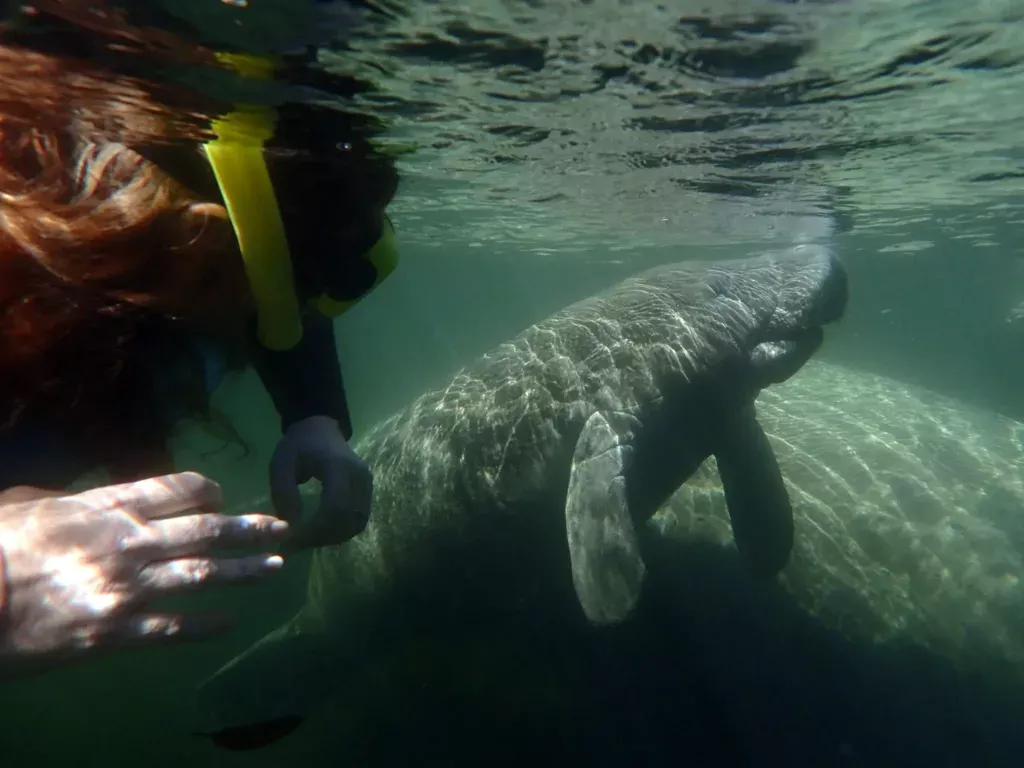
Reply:
<svg viewBox="0 0 1024 768"><path fill-rule="evenodd" d="M715 459L736 549L756 574L774 577L793 550L793 506L754 406L728 420L717 437Z"/></svg>

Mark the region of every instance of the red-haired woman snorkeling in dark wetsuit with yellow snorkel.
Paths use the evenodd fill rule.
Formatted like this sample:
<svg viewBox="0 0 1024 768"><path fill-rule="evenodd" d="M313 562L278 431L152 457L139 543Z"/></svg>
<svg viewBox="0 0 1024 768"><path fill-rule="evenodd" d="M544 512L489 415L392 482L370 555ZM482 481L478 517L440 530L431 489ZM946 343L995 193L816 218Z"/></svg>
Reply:
<svg viewBox="0 0 1024 768"><path fill-rule="evenodd" d="M175 424L206 412L224 370L252 365L282 418L279 514L296 522L298 484L323 481L289 546L354 536L372 477L348 444L331 318L394 266L392 162L366 122L294 104L201 110L44 22L45 35L34 23L0 45L0 490L170 472Z"/></svg>

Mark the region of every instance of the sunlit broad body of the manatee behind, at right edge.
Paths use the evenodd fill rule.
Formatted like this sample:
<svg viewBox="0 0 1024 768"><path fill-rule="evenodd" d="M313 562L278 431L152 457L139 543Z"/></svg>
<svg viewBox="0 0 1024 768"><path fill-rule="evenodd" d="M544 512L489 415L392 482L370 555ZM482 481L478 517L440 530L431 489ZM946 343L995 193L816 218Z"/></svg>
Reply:
<svg viewBox="0 0 1024 768"><path fill-rule="evenodd" d="M1024 680L1024 425L821 361L757 410L793 503L797 602L851 639ZM711 459L650 524L728 543L727 499Z"/></svg>

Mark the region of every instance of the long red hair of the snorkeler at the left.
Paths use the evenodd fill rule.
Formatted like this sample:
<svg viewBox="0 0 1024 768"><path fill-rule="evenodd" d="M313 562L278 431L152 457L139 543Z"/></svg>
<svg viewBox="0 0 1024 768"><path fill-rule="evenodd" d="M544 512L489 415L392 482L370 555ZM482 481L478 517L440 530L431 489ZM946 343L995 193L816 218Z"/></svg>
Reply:
<svg viewBox="0 0 1024 768"><path fill-rule="evenodd" d="M174 347L241 338L249 294L223 207L130 147L195 150L202 121L23 47L0 45L0 429L56 429L119 478L166 470L153 364L185 365L176 395L202 410Z"/></svg>

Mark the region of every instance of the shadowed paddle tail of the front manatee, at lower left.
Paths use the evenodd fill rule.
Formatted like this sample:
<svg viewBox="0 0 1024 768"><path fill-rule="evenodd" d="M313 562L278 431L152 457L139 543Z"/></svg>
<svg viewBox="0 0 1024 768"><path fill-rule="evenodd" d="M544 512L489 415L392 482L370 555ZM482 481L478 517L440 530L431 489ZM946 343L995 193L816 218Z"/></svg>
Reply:
<svg viewBox="0 0 1024 768"><path fill-rule="evenodd" d="M328 637L302 613L221 667L199 689L199 735L228 750L254 750L288 735L328 696Z"/></svg>

